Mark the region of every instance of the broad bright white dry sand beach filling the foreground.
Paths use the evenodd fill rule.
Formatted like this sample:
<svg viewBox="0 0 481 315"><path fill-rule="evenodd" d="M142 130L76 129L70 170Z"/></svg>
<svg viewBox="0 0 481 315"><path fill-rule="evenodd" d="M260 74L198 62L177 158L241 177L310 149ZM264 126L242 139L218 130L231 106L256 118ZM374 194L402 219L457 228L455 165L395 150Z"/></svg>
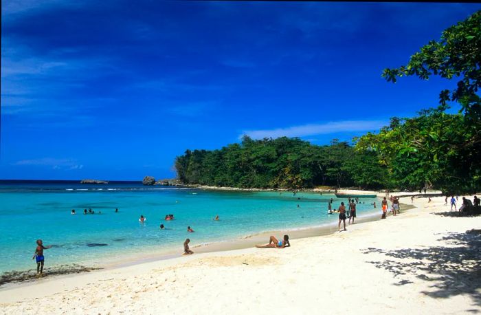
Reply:
<svg viewBox="0 0 481 315"><path fill-rule="evenodd" d="M282 250L194 254L13 285L0 290L0 313L481 312L481 236L466 233L481 228L481 217L443 215L443 197L414 205Z"/></svg>

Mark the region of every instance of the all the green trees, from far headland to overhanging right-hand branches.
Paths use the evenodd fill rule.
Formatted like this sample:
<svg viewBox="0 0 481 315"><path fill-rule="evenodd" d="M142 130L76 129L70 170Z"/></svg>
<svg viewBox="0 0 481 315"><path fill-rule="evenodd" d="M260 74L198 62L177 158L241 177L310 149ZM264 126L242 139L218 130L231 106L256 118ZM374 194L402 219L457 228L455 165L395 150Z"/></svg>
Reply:
<svg viewBox="0 0 481 315"><path fill-rule="evenodd" d="M312 188L320 185L443 193L481 191L481 11L445 30L412 55L407 65L385 69L403 76L458 80L440 91L437 107L413 118L391 118L379 133L352 143L315 145L299 138L253 140L218 150L187 150L175 160L184 184L240 188ZM422 84L422 83L420 83ZM407 102L409 100L406 100ZM457 102L458 113L447 113Z"/></svg>

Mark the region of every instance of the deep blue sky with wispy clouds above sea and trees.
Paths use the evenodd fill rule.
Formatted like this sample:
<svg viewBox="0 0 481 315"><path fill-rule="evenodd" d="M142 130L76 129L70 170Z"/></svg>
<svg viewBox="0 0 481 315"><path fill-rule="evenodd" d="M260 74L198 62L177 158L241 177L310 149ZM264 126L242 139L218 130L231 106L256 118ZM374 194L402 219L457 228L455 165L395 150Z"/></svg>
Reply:
<svg viewBox="0 0 481 315"><path fill-rule="evenodd" d="M326 144L376 131L456 85L393 85L382 69L480 9L2 1L0 178L165 178L186 149L244 133Z"/></svg>

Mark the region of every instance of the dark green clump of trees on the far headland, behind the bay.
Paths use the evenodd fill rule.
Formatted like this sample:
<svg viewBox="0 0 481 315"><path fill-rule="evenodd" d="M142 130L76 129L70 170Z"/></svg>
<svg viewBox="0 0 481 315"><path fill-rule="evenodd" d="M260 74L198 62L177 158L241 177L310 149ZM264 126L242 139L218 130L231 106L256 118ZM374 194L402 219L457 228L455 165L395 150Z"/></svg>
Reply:
<svg viewBox="0 0 481 315"><path fill-rule="evenodd" d="M385 170L376 153L357 153L346 142L317 146L299 138L247 136L220 150L187 150L177 157L175 167L186 184L243 188L379 188Z"/></svg>

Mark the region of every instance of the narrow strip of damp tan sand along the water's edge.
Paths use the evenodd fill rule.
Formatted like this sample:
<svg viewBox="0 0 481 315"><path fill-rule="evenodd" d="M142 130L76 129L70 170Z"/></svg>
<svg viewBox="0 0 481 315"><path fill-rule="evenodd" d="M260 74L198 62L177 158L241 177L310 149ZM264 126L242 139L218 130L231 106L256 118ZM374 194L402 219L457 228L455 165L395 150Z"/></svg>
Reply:
<svg viewBox="0 0 481 315"><path fill-rule="evenodd" d="M414 205L410 204L402 204L401 203L401 210L403 213L408 210L412 210L415 208ZM356 223L358 224L365 224L372 221L379 221L381 209L378 209L378 213L368 213L366 215L359 215L356 217ZM333 217L337 217L338 213L334 213ZM388 215L388 216L392 216ZM348 220L346 220L348 221ZM267 239L269 239L270 235L276 235L276 237L280 237L280 235L288 234L289 239L291 240L302 240L311 237L324 237L326 235L333 235L336 232L339 232L337 228L338 221L330 222L328 224L321 224L315 226L308 226L308 227L300 227L300 228L290 228L287 230L268 230L268 231L261 231L255 232L251 235L247 235L245 237L238 237L235 239L227 239L225 241L211 241L208 243L200 243L197 245L191 245L190 248L194 251L195 254L215 254L220 252L230 252L233 250L247 250L249 248L254 248L257 244L265 243ZM346 227L350 226L346 222ZM139 257L138 254L133 254L131 257L126 257L122 261L117 261L115 263L106 263L100 265L76 265L75 263L72 265L60 265L54 266L52 271L45 272L47 277L43 277L42 280L56 280L56 279L63 279L65 277L75 276L75 274L85 274L91 272L102 272L104 270L117 270L120 268L126 267L133 267L136 265L142 265L144 263L153 263L159 261L170 261L173 259L179 259L183 257L181 254L181 246L179 246L179 250L157 250L153 254L143 254ZM195 256L194 254L194 256ZM76 269L75 269L76 268ZM65 270L63 273L62 270ZM7 272L5 272L7 273ZM35 285L32 281L36 280L36 274L34 269L30 270L12 270L9 273L17 273L23 278L22 281L5 281L4 283L0 284L0 293L4 290L10 290L15 287L24 286L24 285ZM49 274L54 274L52 276L48 276Z"/></svg>

